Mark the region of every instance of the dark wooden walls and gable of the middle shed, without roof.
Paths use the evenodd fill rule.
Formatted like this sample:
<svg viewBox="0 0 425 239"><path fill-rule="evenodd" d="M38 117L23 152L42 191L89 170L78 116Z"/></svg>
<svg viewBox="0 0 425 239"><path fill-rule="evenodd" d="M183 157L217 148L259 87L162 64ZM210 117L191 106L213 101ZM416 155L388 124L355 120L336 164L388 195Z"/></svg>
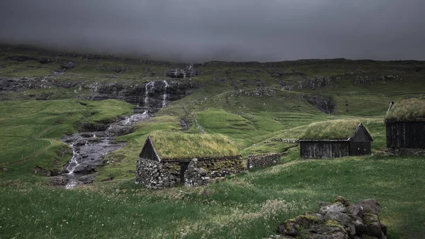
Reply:
<svg viewBox="0 0 425 239"><path fill-rule="evenodd" d="M328 159L370 155L370 143L373 139L368 130L359 123L357 128L351 132L351 136L345 139L300 139L301 158Z"/></svg>

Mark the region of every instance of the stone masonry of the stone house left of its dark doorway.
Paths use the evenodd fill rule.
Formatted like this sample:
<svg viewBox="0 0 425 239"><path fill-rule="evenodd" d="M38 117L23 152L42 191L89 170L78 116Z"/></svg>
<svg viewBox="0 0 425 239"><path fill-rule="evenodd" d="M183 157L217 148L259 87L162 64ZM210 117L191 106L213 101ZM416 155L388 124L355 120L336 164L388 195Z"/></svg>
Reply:
<svg viewBox="0 0 425 239"><path fill-rule="evenodd" d="M142 184L148 189L162 189L179 184L180 181L180 166L176 162L137 160L136 184Z"/></svg>

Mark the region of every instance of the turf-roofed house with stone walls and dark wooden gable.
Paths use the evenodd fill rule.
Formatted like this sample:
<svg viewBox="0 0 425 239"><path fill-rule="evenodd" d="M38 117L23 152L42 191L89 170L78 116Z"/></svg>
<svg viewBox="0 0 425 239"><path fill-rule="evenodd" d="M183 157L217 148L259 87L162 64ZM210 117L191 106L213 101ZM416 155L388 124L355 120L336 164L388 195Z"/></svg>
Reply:
<svg viewBox="0 0 425 239"><path fill-rule="evenodd" d="M195 182L198 186L244 169L239 151L225 135L154 131L137 160L136 183L150 189L187 185L191 171L202 177L204 183Z"/></svg>

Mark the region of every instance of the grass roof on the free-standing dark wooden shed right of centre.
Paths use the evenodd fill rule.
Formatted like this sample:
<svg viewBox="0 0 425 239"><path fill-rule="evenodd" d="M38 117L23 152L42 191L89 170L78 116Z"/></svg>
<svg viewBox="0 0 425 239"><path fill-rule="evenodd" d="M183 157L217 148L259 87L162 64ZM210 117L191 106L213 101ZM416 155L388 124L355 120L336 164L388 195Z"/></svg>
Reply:
<svg viewBox="0 0 425 239"><path fill-rule="evenodd" d="M334 120L312 123L300 136L303 140L347 140L356 130L360 121Z"/></svg>

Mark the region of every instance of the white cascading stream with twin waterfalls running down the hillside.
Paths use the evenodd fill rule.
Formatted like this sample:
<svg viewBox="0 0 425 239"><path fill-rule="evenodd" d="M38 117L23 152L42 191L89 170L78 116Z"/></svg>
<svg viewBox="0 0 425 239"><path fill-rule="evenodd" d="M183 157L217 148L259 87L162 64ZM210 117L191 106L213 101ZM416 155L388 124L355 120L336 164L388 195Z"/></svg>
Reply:
<svg viewBox="0 0 425 239"><path fill-rule="evenodd" d="M162 104L158 104L155 109L166 106L169 100L169 82L164 82L164 93L162 94ZM154 91L155 82L147 82L145 85L145 107L143 113L135 113L128 116L121 121L111 123L106 126L105 131L94 132L80 132L74 135L66 135L61 140L72 147L72 157L66 167L64 167L64 174L55 176L55 185L65 187L66 189L73 189L81 184L90 184L96 177L96 167L98 165L108 164L105 156L123 148L125 143L115 143L114 138L118 135L125 135L132 132L132 126L135 123L144 121L150 118L148 113L150 107L157 104L157 99L161 96L156 96L155 101L149 99L149 94ZM152 106L149 107L149 103Z"/></svg>

